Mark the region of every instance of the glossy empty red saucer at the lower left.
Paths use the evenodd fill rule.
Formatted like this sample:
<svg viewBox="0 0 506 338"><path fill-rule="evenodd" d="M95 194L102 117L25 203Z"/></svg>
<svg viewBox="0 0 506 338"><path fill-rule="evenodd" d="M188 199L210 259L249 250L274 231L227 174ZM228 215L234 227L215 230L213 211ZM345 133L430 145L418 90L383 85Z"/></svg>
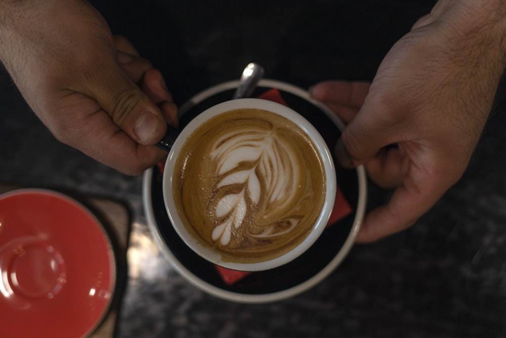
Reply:
<svg viewBox="0 0 506 338"><path fill-rule="evenodd" d="M81 337L105 316L114 252L95 216L66 195L0 195L0 337Z"/></svg>

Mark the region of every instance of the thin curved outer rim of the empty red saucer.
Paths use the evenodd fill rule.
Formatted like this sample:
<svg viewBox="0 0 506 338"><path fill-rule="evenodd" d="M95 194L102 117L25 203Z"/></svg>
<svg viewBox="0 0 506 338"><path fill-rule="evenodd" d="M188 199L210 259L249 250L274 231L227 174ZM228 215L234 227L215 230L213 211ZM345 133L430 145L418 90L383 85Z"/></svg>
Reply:
<svg viewBox="0 0 506 338"><path fill-rule="evenodd" d="M110 297L107 301L106 306L103 309L103 313L100 315L100 317L90 325L90 328L82 333L82 336L89 336L93 332L95 332L100 325L103 323L104 319L107 318L113 299L115 297L116 287L117 287L117 278L118 278L118 271L117 271L117 257L116 253L114 252L114 246L112 244L111 239L109 238L109 234L105 230L102 222L98 219L98 217L83 203L79 202L75 198L65 194L58 192L56 190L46 189L46 188L37 188L37 187L21 187L17 189L13 189L11 191L7 191L5 193L0 194L0 200L4 198L9 198L12 196L19 196L19 195L26 195L26 194L40 194L45 196L52 196L57 199L63 200L67 203L73 204L75 207L77 207L81 212L87 214L90 219L93 220L94 226L101 232L102 238L104 240L104 244L107 246L107 256L109 260L109 275L111 280L111 285L109 285L108 291L110 292Z"/></svg>

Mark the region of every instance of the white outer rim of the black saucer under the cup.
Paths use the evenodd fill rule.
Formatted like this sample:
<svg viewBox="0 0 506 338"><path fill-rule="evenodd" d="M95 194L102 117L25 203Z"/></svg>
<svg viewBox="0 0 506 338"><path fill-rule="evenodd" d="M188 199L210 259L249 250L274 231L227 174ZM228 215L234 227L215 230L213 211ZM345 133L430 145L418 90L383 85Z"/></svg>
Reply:
<svg viewBox="0 0 506 338"><path fill-rule="evenodd" d="M214 87L211 87L201 93L192 97L188 102L181 106L180 111L185 112L191 106L199 103L200 101L206 99L209 96L215 95L225 90L234 89L237 87L238 81L229 81ZM268 87L268 88L277 88L288 93L297 95L318 108L320 108L325 114L338 126L339 129L344 128L343 122L333 114L333 112L324 104L319 101L312 99L309 96L309 93L299 87L293 86L291 84L287 84L284 82L280 82L277 80L263 79L260 81L259 86ZM170 264L174 267L174 269L189 283L198 289L216 296L221 299L225 299L226 301L237 302L237 303L248 303L248 304L262 304L269 302L277 302L282 299L287 299L293 297L297 294L305 292L311 289L313 286L321 282L323 279L328 277L344 260L344 258L348 255L350 250L353 247L353 243L355 242L355 238L357 237L358 231L360 230L360 226L362 224L366 202L367 202L367 179L365 174L365 169L363 166L357 167L357 178L358 178L358 201L356 205L356 213L355 218L353 220L352 229L345 243L341 247L341 250L334 256L334 258L323 268L319 273L304 281L301 284L296 286L287 288L282 291L272 292L272 293L264 293L264 294L246 294L239 292L232 292L228 290L224 290L215 285L209 284L199 277L195 276L191 271L189 271L172 253L171 249L167 247L166 243L163 241L158 229L156 227L156 218L153 213L152 208L152 200L151 200L151 177L153 168L149 168L144 172L143 175L143 206L144 212L146 214L148 227L153 234L155 241L158 246L161 248L165 257L168 259Z"/></svg>

